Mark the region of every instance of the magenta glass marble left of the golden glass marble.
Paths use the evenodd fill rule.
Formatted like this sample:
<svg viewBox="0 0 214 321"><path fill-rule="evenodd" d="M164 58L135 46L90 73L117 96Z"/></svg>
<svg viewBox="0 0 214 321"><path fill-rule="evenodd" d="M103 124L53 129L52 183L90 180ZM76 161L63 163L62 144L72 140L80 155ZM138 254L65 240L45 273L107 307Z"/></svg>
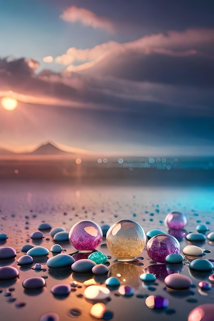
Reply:
<svg viewBox="0 0 214 321"><path fill-rule="evenodd" d="M81 220L69 232L70 244L80 252L92 252L102 242L103 232L91 220Z"/></svg>

